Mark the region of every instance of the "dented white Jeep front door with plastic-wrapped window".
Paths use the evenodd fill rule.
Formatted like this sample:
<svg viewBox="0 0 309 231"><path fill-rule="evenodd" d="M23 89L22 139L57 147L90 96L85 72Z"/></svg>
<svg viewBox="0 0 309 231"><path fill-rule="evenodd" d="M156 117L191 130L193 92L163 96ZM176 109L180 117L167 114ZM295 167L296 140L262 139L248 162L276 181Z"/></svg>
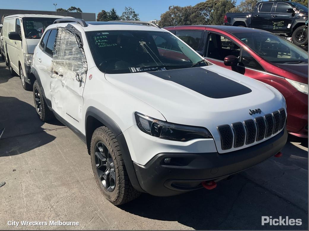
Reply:
<svg viewBox="0 0 309 231"><path fill-rule="evenodd" d="M66 28L58 28L55 44L50 80L53 110L72 127L83 131L86 57L79 38Z"/></svg>

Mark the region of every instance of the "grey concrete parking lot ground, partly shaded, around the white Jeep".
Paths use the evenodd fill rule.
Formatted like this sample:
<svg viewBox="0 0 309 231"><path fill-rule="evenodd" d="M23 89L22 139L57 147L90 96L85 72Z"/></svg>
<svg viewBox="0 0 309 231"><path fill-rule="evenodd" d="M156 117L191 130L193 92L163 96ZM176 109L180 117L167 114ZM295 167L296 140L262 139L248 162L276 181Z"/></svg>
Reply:
<svg viewBox="0 0 309 231"><path fill-rule="evenodd" d="M142 194L115 207L99 192L90 156L57 120L43 123L31 91L0 61L0 229L308 229L308 143L289 137L272 157L218 183L174 197ZM261 216L302 225L261 225ZM78 226L9 226L8 221Z"/></svg>

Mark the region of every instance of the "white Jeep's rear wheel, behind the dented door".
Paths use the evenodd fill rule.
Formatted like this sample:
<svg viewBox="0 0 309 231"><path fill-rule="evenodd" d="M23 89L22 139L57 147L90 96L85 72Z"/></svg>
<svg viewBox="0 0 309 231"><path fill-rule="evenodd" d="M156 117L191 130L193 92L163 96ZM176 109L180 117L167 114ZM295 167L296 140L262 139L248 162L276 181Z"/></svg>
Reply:
<svg viewBox="0 0 309 231"><path fill-rule="evenodd" d="M34 107L36 108L36 113L38 114L40 120L48 121L54 118L54 114L45 103L43 98L42 90L39 86L38 81L34 81L33 84L33 99L34 99Z"/></svg>

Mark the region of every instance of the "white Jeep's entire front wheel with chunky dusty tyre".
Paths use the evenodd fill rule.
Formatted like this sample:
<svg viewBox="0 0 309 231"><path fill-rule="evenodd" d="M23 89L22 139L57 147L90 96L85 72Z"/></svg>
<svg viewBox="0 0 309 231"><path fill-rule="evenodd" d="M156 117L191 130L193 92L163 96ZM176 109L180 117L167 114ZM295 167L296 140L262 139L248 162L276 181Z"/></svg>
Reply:
<svg viewBox="0 0 309 231"><path fill-rule="evenodd" d="M121 205L141 194L133 188L118 141L107 127L95 129L90 151L95 181L108 201L114 205Z"/></svg>

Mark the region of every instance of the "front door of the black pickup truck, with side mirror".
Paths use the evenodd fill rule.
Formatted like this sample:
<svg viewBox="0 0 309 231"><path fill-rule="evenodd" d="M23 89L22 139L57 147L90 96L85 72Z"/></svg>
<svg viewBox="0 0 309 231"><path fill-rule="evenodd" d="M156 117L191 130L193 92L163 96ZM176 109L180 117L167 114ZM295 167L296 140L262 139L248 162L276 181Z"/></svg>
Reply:
<svg viewBox="0 0 309 231"><path fill-rule="evenodd" d="M288 9L293 9L289 3L277 2L273 9L269 31L273 33L290 33L292 31L295 15L287 13Z"/></svg>

